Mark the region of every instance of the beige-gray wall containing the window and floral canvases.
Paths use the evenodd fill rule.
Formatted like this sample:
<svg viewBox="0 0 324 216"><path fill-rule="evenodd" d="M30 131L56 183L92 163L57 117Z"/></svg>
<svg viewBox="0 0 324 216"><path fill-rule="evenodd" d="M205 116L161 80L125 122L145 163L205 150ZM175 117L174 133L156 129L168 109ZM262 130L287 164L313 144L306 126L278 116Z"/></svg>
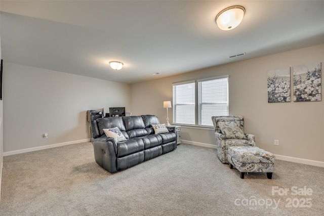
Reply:
<svg viewBox="0 0 324 216"><path fill-rule="evenodd" d="M229 114L244 116L245 132L256 136L260 148L324 162L324 97L320 102L267 101L267 70L314 62L324 62L324 45L136 83L132 85L133 113L154 113L166 122L163 101L172 101L172 82L228 74ZM172 122L172 109L169 111ZM216 142L213 130L201 128L182 127L181 139L205 146ZM279 140L279 146L273 145L274 139Z"/></svg>

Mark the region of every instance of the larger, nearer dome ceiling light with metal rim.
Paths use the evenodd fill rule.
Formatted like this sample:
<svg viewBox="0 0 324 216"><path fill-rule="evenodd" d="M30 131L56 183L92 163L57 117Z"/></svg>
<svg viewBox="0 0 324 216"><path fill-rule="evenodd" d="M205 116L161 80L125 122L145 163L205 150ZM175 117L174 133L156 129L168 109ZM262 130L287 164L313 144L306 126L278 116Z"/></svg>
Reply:
<svg viewBox="0 0 324 216"><path fill-rule="evenodd" d="M244 14L245 8L242 6L232 6L219 12L215 21L220 29L227 31L237 27L241 23Z"/></svg>

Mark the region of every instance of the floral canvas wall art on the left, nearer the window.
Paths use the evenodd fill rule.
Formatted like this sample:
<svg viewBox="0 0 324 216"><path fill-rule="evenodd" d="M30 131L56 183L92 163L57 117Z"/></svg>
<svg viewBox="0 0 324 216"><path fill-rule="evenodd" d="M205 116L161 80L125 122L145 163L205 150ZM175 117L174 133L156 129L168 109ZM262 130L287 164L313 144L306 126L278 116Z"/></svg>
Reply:
<svg viewBox="0 0 324 216"><path fill-rule="evenodd" d="M291 102L290 67L268 70L268 103Z"/></svg>

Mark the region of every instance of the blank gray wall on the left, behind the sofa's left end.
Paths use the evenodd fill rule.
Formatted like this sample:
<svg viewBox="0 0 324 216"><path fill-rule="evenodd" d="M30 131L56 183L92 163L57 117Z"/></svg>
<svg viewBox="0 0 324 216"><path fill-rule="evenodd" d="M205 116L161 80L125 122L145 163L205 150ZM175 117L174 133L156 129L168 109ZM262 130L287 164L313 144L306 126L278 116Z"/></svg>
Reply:
<svg viewBox="0 0 324 216"><path fill-rule="evenodd" d="M9 62L4 71L5 153L90 139L87 110L131 109L130 84Z"/></svg>

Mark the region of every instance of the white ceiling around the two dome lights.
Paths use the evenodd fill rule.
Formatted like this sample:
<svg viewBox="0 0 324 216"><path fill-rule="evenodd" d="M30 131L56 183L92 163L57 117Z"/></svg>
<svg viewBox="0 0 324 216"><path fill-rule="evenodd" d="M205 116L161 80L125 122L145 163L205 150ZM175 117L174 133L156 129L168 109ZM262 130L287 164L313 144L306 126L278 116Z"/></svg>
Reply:
<svg viewBox="0 0 324 216"><path fill-rule="evenodd" d="M125 83L324 44L324 1L0 4L4 61ZM233 5L245 17L222 31L215 17ZM111 69L113 60L123 69Z"/></svg>

